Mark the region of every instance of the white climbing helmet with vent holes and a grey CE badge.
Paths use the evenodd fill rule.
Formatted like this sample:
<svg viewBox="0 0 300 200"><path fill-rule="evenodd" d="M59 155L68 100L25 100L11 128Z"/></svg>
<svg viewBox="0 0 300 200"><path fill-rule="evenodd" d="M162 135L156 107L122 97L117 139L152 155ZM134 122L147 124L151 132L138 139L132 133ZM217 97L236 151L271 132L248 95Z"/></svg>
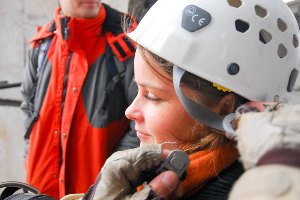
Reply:
<svg viewBox="0 0 300 200"><path fill-rule="evenodd" d="M128 36L251 101L291 91L300 59L299 27L282 0L158 0Z"/></svg>

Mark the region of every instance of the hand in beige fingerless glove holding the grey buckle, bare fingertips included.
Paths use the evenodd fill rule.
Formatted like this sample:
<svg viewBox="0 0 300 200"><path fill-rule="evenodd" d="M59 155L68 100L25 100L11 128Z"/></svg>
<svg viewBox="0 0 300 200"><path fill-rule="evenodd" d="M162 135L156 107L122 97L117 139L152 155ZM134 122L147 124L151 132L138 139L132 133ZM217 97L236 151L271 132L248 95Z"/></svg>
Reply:
<svg viewBox="0 0 300 200"><path fill-rule="evenodd" d="M178 191L174 195L181 196L182 186L176 189L179 179L172 171L161 173L152 180L153 188L150 183L144 184L139 192L135 190L143 184L140 172L158 166L169 153L155 144L114 153L105 162L96 183L83 200L163 200L173 191Z"/></svg>

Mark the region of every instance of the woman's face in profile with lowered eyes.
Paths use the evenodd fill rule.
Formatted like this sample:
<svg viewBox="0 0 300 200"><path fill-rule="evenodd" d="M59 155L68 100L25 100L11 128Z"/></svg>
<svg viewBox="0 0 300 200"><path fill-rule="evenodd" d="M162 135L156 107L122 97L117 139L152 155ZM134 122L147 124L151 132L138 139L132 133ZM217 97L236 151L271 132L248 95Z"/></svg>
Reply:
<svg viewBox="0 0 300 200"><path fill-rule="evenodd" d="M163 69L152 66L161 75L172 80ZM163 148L178 149L182 141L193 142L200 138L200 126L181 105L172 82L159 78L136 51L134 61L135 82L138 95L126 110L126 116L136 122L137 136L143 144L164 144ZM183 92L193 97L191 89L183 88ZM197 127L196 127L197 126ZM195 131L192 131L196 129ZM182 146L181 146L182 147Z"/></svg>

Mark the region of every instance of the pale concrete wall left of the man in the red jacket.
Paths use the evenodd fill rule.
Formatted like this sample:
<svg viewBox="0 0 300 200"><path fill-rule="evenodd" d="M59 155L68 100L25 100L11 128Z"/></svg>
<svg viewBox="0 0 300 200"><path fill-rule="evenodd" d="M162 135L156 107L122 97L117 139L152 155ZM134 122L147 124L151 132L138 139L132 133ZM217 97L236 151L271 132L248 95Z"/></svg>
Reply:
<svg viewBox="0 0 300 200"><path fill-rule="evenodd" d="M20 82L36 27L52 19L55 0L0 0L0 81ZM19 88L0 90L0 98L21 100ZM25 181L22 116L18 107L0 106L0 182Z"/></svg>

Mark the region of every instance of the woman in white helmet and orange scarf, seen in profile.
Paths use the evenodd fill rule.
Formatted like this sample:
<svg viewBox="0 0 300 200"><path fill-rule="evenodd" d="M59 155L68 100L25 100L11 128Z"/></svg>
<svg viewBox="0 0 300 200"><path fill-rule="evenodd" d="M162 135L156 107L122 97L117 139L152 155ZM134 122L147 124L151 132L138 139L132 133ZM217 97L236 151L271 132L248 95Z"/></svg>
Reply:
<svg viewBox="0 0 300 200"><path fill-rule="evenodd" d="M227 199L242 169L235 144L224 136L223 118L245 101L273 101L291 92L300 58L299 28L292 12L282 0L158 0L128 36L137 43L139 91L126 116L136 122L141 149L146 146L153 149L151 156L161 155L157 145L150 145L161 144L189 154L191 163L177 196ZM140 177L133 172L157 163L137 162L140 165L131 171L123 169L128 169L134 153L149 151L112 156L98 186L122 189L128 180L138 186ZM118 172L108 164L118 160L127 178L111 183ZM117 197L132 192L112 188ZM115 197L106 190L93 192L92 199ZM145 185L140 192L149 190ZM147 194L145 199L151 199Z"/></svg>

